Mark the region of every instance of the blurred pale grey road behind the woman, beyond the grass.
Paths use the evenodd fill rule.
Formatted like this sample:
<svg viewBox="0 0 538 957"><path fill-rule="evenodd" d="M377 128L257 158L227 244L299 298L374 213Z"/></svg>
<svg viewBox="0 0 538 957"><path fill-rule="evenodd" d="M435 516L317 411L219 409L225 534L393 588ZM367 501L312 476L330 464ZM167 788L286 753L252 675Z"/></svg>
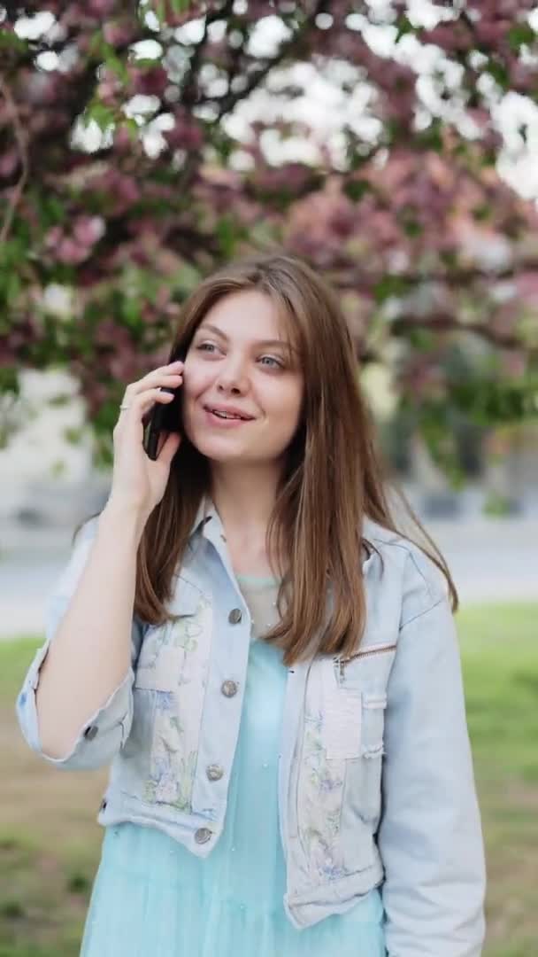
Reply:
<svg viewBox="0 0 538 957"><path fill-rule="evenodd" d="M424 520L460 591L473 602L538 602L538 516ZM0 523L0 638L39 634L45 603L71 549L69 528Z"/></svg>

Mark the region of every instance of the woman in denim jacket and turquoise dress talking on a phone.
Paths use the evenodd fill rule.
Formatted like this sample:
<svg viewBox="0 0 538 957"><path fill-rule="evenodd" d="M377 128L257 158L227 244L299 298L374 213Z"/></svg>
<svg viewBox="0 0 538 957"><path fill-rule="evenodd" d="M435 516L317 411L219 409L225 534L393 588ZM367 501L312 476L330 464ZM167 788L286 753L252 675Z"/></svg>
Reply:
<svg viewBox="0 0 538 957"><path fill-rule="evenodd" d="M83 957L477 957L457 594L397 530L334 294L232 264L171 356L125 391L17 702L49 762L112 762Z"/></svg>

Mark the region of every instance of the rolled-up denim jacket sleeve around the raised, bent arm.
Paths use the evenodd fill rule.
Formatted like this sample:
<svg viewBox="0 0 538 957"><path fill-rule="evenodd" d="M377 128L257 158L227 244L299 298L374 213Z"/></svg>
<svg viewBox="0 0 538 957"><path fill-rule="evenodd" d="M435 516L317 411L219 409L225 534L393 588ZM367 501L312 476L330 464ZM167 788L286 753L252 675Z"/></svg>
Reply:
<svg viewBox="0 0 538 957"><path fill-rule="evenodd" d="M71 751L61 758L52 758L43 751L39 738L35 706L39 669L75 592L96 532L97 518L86 523L77 535L70 560L60 574L47 602L45 642L33 657L15 705L17 720L26 742L32 750L57 768L88 769L108 764L127 740L133 721L134 666L140 654L140 645L145 631L136 616L133 618L132 625L129 670L108 701L98 708L89 721L80 728Z"/></svg>

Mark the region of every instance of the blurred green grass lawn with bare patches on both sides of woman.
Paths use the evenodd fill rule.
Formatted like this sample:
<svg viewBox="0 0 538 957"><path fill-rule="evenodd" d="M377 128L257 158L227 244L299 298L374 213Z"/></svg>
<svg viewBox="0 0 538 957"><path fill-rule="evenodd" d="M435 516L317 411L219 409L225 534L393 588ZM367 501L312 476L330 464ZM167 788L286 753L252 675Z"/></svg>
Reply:
<svg viewBox="0 0 538 957"><path fill-rule="evenodd" d="M486 841L484 957L538 953L537 621L536 604L457 616ZM51 768L18 731L13 703L38 643L0 643L0 957L76 957L102 837L106 770Z"/></svg>

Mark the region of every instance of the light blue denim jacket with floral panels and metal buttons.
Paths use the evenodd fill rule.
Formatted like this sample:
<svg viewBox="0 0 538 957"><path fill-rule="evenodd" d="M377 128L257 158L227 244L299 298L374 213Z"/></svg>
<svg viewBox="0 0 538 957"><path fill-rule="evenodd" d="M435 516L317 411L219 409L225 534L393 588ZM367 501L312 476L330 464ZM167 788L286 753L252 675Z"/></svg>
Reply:
<svg viewBox="0 0 538 957"><path fill-rule="evenodd" d="M178 620L148 627L135 617L129 672L73 750L43 754L35 688L97 519L51 597L46 642L17 700L23 734L47 761L112 762L100 824L153 825L199 857L225 824L250 639L223 525L206 507L175 578ZM302 928L380 885L388 957L479 957L484 847L446 586L408 540L369 519L363 536L379 554L363 561L359 653L347 663L312 655L288 669L278 775L284 907Z"/></svg>

